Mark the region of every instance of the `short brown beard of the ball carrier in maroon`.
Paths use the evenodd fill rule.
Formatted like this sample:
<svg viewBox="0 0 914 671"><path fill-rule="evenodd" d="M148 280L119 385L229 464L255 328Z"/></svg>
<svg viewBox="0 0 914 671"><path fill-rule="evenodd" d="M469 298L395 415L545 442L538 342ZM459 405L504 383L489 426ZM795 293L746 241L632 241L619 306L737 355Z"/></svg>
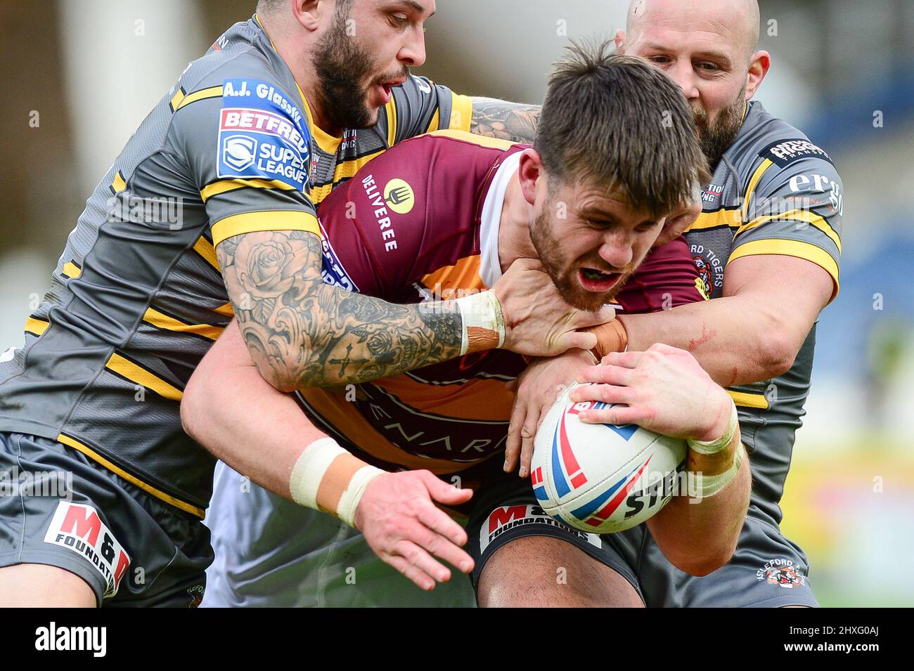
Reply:
<svg viewBox="0 0 914 671"><path fill-rule="evenodd" d="M592 263L588 263L585 259L569 263L561 253L561 241L554 234L549 221L547 213L554 211L551 204L544 204L543 211L537 216L534 224L530 226L530 240L537 250L537 256L543 267L546 268L552 283L558 288L558 294L562 299L565 299L566 303L573 308L587 312L598 310L609 303L622 290L628 278L632 277L636 264L632 262L622 268L622 277L612 285L609 291L596 293L581 287L578 280L579 267L598 267L602 269L606 266L606 261L594 260ZM616 270L616 272L619 271Z"/></svg>

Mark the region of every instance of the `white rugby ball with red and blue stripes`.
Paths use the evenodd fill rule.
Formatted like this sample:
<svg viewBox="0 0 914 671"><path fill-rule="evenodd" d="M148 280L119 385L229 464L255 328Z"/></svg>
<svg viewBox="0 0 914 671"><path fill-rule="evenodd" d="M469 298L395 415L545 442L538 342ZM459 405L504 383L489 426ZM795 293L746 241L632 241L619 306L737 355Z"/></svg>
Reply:
<svg viewBox="0 0 914 671"><path fill-rule="evenodd" d="M590 533L624 531L650 519L685 475L684 440L638 425L585 424L579 414L604 408L572 403L569 386L534 438L530 477L539 505L562 524Z"/></svg>

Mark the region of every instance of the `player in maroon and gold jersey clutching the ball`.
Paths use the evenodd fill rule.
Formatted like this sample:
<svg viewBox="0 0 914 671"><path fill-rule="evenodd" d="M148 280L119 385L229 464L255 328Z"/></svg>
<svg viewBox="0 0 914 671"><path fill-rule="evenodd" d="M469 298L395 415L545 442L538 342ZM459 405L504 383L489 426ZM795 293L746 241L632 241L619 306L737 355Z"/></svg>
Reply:
<svg viewBox="0 0 914 671"><path fill-rule="evenodd" d="M605 51L576 48L559 62L533 148L445 131L364 166L321 206L324 281L393 303L461 300L527 259L579 309L615 299L649 311L701 299L685 244L652 250L706 176L685 100L656 70ZM569 106L590 118L572 118ZM673 124L658 132L667 110ZM529 297L531 311L537 300ZM383 360L394 344L367 346ZM534 514L515 533L487 538L496 511L536 503L528 483L501 472L513 401L506 383L525 365L485 349L354 390L302 389L293 400L260 379L239 331L228 329L187 385L182 417L188 433L260 486L354 524L423 589L451 577L434 555L473 571L497 602L496 592L517 585L487 575L485 561L522 543L523 568L542 588L526 603L626 604L619 587L637 589L636 580L599 537ZM687 514L668 507L656 517L665 518L655 534L661 547L687 540L703 565L720 565L749 496L732 401L685 351L659 346L627 367L639 397L632 410L651 414L655 430L709 443L728 436L711 454L690 453L695 470L728 474L725 486ZM252 468L264 450L272 467ZM466 508L467 531L435 502ZM301 530L282 521L277 544ZM472 556L461 549L468 534ZM576 587L549 592L557 566ZM481 594L481 603L489 598Z"/></svg>

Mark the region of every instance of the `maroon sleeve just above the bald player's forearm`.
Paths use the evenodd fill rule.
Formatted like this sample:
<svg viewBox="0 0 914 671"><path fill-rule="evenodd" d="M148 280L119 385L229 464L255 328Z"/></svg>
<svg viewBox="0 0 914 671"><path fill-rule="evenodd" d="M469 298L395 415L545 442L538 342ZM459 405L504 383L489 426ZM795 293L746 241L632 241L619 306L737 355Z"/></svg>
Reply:
<svg viewBox="0 0 914 671"><path fill-rule="evenodd" d="M704 287L685 239L678 237L648 252L616 300L628 314L656 312L707 300Z"/></svg>

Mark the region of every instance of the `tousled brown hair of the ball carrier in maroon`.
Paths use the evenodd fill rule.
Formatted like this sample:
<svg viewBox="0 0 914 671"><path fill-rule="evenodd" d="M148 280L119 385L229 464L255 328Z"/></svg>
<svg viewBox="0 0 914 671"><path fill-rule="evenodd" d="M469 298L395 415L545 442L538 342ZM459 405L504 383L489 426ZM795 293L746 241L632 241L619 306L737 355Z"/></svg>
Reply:
<svg viewBox="0 0 914 671"><path fill-rule="evenodd" d="M710 180L707 160L675 82L610 45L566 47L549 76L534 149L559 182L605 185L659 218L693 200L696 181Z"/></svg>

